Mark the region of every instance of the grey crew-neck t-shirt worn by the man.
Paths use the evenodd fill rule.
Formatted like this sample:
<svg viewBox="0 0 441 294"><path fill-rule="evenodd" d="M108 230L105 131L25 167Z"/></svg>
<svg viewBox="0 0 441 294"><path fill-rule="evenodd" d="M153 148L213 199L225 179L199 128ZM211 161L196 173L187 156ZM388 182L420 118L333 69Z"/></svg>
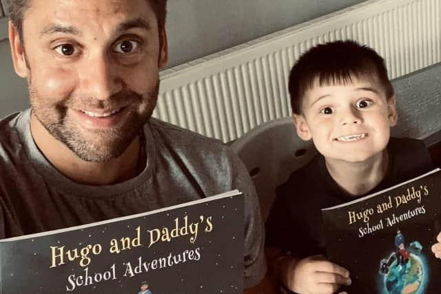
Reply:
<svg viewBox="0 0 441 294"><path fill-rule="evenodd" d="M45 159L30 109L0 121L0 238L151 211L231 189L245 195L245 286L265 274L264 232L252 180L218 140L154 118L145 124L147 165L116 185L80 185Z"/></svg>

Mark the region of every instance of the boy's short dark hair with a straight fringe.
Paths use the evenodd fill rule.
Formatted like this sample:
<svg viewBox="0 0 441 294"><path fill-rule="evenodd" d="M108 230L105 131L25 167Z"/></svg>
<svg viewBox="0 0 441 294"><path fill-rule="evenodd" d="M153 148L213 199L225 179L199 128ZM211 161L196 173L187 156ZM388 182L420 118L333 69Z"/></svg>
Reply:
<svg viewBox="0 0 441 294"><path fill-rule="evenodd" d="M334 41L309 49L289 74L292 112L301 114L303 97L314 86L344 85L351 78L376 78L387 98L393 96L384 59L375 50L355 41Z"/></svg>

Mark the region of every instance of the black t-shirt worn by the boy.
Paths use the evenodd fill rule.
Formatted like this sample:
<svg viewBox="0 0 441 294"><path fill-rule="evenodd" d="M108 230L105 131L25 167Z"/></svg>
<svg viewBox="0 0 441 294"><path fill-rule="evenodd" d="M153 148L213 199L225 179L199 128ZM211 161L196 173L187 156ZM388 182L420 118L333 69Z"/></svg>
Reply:
<svg viewBox="0 0 441 294"><path fill-rule="evenodd" d="M387 151L389 162L386 176L365 195L410 180L434 168L429 151L421 140L391 138ZM265 224L267 246L289 251L296 258L325 255L321 209L353 199L354 196L343 191L331 178L325 158L319 154L277 187L276 200Z"/></svg>

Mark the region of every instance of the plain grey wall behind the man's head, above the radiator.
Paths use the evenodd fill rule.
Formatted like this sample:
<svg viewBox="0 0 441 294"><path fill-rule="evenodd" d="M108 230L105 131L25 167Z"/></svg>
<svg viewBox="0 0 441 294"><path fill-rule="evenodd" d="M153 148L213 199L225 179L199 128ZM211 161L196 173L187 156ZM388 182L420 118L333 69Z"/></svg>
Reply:
<svg viewBox="0 0 441 294"><path fill-rule="evenodd" d="M6 2L8 0L1 0ZM169 0L167 34L173 67L365 0ZM0 19L0 117L28 107L14 74Z"/></svg>

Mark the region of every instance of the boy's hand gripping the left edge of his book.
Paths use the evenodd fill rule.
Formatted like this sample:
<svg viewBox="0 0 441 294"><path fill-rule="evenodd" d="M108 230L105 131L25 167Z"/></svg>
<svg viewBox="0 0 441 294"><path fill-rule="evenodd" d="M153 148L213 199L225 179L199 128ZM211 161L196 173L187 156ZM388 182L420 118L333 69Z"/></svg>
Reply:
<svg viewBox="0 0 441 294"><path fill-rule="evenodd" d="M302 294L332 294L341 285L350 285L349 271L322 255L299 260L292 268L289 288Z"/></svg>

